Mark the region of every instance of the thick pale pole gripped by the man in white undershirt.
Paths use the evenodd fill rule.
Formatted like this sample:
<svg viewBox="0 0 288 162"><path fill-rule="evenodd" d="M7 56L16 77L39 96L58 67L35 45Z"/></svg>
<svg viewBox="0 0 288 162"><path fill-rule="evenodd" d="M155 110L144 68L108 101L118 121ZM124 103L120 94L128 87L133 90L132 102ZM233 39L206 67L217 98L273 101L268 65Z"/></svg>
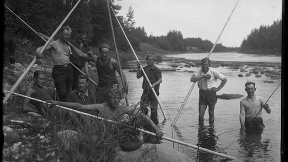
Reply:
<svg viewBox="0 0 288 162"><path fill-rule="evenodd" d="M60 23L60 25L56 28L56 30L53 32L53 34L49 37L49 39L46 41L46 43L43 45L43 47L40 50L40 53L42 53L44 51L44 49L47 47L48 43L52 40L52 38L56 35L56 33L59 31L59 29L62 27L62 25L64 24L64 22L68 19L68 17L70 16L70 14L72 13L72 11L76 8L76 6L78 5L78 3L80 2L80 0L77 1L77 3L73 6L73 8L70 10L70 12L67 14L67 16L63 19L63 21ZM25 77L25 75L27 74L27 72L31 69L31 67L33 66L33 64L36 62L37 58L34 57L34 59L32 60L32 62L28 65L28 67L25 69L25 71L21 74L21 76L18 78L18 80L14 83L14 85L11 87L10 91L14 91L17 86L20 84L20 82L23 80L23 78ZM9 99L9 97L11 96L10 93L8 93L7 95L5 95L4 99L3 99L3 104L6 103L6 101Z"/></svg>

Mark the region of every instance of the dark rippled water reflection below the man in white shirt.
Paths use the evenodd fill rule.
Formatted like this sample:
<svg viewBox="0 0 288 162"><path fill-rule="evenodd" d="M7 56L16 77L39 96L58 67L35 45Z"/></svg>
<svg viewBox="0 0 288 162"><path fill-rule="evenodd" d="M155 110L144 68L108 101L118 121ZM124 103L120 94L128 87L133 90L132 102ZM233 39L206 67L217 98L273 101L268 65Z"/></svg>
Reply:
<svg viewBox="0 0 288 162"><path fill-rule="evenodd" d="M214 130L214 124L204 125L203 123L198 124L198 146L210 150L216 150L217 139ZM211 161L213 154L198 151L198 161Z"/></svg>

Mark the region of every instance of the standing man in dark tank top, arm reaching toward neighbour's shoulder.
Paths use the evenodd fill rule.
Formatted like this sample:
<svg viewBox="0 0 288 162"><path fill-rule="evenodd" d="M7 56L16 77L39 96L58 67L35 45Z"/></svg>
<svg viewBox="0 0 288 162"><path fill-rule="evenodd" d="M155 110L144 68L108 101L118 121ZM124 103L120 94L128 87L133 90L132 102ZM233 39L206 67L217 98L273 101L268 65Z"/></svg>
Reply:
<svg viewBox="0 0 288 162"><path fill-rule="evenodd" d="M99 45L99 56L92 55L92 53L88 52L89 57L87 57L86 54L81 53L80 50L77 50L76 47L74 47L71 43L67 42L68 45L72 47L73 50L77 51L78 54L85 57L85 59L94 61L96 63L96 68L98 72L98 87L95 91L96 96L96 103L103 103L105 102L104 93L112 86L117 85L118 81L115 75L115 71L117 71L120 74L119 65L116 59L108 56L108 53L110 52L110 45L103 43ZM121 71L122 72L122 71ZM123 89L127 91L128 84L126 81L126 77L124 75L124 72L122 72L122 76L124 79L124 85Z"/></svg>

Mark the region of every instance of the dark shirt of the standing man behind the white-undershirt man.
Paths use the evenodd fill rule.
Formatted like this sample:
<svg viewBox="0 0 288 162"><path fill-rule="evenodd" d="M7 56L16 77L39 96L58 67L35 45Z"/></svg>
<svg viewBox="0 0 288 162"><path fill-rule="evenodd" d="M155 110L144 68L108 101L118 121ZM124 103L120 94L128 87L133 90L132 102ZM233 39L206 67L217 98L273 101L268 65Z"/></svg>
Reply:
<svg viewBox="0 0 288 162"><path fill-rule="evenodd" d="M73 44L76 48L80 49L83 53L87 53L90 48L89 46L86 44L86 41L83 41L83 45L81 48L81 41L80 39L77 37L76 39L71 39L69 40L71 44ZM81 58L78 54L76 54L74 51L72 51L72 54L70 55L70 61L79 66L79 67L84 67L86 60Z"/></svg>

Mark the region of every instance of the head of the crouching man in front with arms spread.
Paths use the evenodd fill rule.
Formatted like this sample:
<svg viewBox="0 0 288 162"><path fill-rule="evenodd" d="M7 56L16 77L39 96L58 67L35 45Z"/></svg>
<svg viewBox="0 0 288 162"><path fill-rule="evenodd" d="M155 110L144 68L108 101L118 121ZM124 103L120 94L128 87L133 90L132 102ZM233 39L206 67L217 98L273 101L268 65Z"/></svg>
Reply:
<svg viewBox="0 0 288 162"><path fill-rule="evenodd" d="M120 99L122 98L121 91L118 87L112 86L107 91L107 101L111 107L117 107L119 105Z"/></svg>

